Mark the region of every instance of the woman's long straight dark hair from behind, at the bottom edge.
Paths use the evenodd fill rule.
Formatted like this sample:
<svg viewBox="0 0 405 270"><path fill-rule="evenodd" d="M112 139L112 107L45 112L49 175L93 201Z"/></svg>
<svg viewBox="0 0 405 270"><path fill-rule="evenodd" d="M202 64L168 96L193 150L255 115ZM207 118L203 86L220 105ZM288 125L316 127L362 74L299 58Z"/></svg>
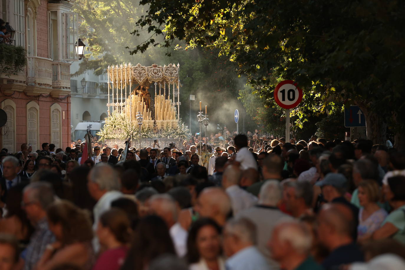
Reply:
<svg viewBox="0 0 405 270"><path fill-rule="evenodd" d="M136 226L121 270L145 270L153 259L165 253L176 255L166 223L158 216L144 217Z"/></svg>

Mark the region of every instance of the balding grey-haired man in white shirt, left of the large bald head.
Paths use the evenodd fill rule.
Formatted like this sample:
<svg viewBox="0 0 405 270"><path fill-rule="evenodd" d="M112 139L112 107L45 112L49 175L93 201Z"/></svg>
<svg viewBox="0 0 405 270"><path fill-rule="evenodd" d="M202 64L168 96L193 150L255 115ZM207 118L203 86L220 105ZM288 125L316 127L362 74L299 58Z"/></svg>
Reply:
<svg viewBox="0 0 405 270"><path fill-rule="evenodd" d="M179 213L176 201L168 194L156 194L149 199L149 207L152 213L166 222L177 256L183 257L187 253L188 233L177 222Z"/></svg>

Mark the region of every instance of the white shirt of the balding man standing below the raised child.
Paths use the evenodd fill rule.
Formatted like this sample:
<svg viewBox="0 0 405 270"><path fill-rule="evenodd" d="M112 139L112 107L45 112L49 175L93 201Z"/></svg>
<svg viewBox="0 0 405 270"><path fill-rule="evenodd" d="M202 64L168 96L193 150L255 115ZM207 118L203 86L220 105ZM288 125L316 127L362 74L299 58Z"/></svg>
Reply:
<svg viewBox="0 0 405 270"><path fill-rule="evenodd" d="M258 201L256 196L240 188L238 185L226 188L225 192L230 198L233 215L237 215L241 210L254 206Z"/></svg>

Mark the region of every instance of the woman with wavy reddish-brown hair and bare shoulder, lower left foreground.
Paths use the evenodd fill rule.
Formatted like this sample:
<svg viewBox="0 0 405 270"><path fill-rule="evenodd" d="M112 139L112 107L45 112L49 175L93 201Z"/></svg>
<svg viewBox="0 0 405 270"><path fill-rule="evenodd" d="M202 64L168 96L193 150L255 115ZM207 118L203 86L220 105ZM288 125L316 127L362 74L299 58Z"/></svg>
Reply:
<svg viewBox="0 0 405 270"><path fill-rule="evenodd" d="M53 269L70 263L90 270L95 256L92 247L93 230L87 211L66 200L55 201L47 209L49 230L56 242L49 244L36 269Z"/></svg>

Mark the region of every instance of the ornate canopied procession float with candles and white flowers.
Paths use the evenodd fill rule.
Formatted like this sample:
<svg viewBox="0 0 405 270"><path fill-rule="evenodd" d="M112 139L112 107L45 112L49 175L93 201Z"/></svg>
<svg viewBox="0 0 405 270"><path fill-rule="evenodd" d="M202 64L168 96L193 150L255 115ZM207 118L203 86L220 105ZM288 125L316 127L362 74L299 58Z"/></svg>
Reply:
<svg viewBox="0 0 405 270"><path fill-rule="evenodd" d="M160 148L174 143L180 147L191 136L180 118L179 64L142 66L121 64L109 66L108 117L97 133L107 145L131 138L132 146L152 146L158 140ZM154 90L151 97L149 90Z"/></svg>

